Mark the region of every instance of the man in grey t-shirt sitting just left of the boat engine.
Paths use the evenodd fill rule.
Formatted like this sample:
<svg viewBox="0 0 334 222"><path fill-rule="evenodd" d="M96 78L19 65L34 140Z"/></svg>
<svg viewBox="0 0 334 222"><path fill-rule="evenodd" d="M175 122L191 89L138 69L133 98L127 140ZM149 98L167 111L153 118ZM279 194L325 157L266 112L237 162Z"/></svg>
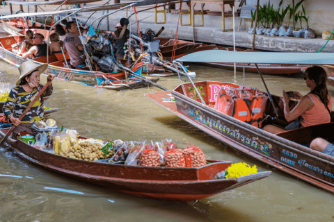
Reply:
<svg viewBox="0 0 334 222"><path fill-rule="evenodd" d="M77 35L77 24L75 24L75 22L67 22L66 30L67 33L65 35L64 46L68 56L70 56L70 65L72 69L86 66L85 60L81 58L84 46L81 43L79 35Z"/></svg>

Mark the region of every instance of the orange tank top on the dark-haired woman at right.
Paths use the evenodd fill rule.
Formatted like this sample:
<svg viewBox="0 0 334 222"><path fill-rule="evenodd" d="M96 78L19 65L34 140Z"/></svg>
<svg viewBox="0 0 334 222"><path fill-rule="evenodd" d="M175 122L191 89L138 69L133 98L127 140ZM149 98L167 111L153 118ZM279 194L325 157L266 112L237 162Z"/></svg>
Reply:
<svg viewBox="0 0 334 222"><path fill-rule="evenodd" d="M306 127L322 123L330 123L331 116L328 110L325 108L324 103L321 103L321 101L317 99L314 94L308 94L308 96L310 96L310 99L312 99L315 105L313 105L312 109L305 111L303 114L301 114L301 117L303 118L301 120L301 126ZM328 102L329 110L332 110L332 104L333 99L331 96Z"/></svg>

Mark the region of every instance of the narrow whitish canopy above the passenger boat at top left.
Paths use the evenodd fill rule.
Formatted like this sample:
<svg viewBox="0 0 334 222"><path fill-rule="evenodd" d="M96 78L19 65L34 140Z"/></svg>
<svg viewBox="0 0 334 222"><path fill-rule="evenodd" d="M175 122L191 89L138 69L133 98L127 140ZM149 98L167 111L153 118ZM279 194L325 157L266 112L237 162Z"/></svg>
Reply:
<svg viewBox="0 0 334 222"><path fill-rule="evenodd" d="M30 1L29 1L30 2ZM103 11L103 10L116 10L119 8L123 8L125 6L129 6L132 3L136 3L137 1L127 2L127 3L117 3L112 5L105 6L90 6L84 8L74 8L69 10L61 10L61 11L53 11L53 12L32 12L32 13L19 13L13 15L1 16L0 19L15 19L17 17L33 17L33 16L47 16L47 15L61 15L61 14L71 14L73 12L95 12L95 11Z"/></svg>

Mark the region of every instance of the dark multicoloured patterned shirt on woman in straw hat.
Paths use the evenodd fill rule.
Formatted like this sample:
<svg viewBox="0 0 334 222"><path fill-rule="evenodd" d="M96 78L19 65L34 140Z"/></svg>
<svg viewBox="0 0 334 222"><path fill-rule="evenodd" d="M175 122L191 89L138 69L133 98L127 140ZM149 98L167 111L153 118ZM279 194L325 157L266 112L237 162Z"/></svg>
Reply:
<svg viewBox="0 0 334 222"><path fill-rule="evenodd" d="M24 110L26 110L31 101L33 101L38 92L40 92L42 87L43 85L38 85L37 88L33 88L33 92L26 92L23 89L22 85L14 87L10 91L8 99L2 108L3 113L6 115L6 118L9 119L9 117L11 116L19 118L19 116L21 116ZM51 96L52 91L52 85L47 87L45 92L42 93L42 96L40 96L38 101L35 101L29 112L27 112L26 115L23 117L22 123L33 123L34 121L40 121L44 119L42 98L45 96Z"/></svg>

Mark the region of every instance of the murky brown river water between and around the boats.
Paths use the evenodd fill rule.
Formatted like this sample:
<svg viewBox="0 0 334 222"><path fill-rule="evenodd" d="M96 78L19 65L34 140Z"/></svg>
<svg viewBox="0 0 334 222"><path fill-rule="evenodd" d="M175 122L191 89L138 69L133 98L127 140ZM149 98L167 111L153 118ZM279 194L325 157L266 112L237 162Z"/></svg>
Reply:
<svg viewBox="0 0 334 222"><path fill-rule="evenodd" d="M0 81L15 83L17 68L0 61ZM258 74L191 65L194 81L218 80L253 86L265 91ZM246 76L246 78L244 78ZM282 90L309 92L302 78L264 75L272 94ZM46 77L42 76L42 84ZM161 78L173 89L177 77ZM246 162L258 171L272 171L269 178L232 191L188 203L120 194L60 176L22 160L8 147L0 148L0 221L334 221L334 195L253 160L202 133L144 94L157 87L116 92L63 80L54 80L54 94L47 102L59 112L49 114L58 126L76 129L95 139L177 140L200 146L209 159ZM334 96L334 88L328 86Z"/></svg>

